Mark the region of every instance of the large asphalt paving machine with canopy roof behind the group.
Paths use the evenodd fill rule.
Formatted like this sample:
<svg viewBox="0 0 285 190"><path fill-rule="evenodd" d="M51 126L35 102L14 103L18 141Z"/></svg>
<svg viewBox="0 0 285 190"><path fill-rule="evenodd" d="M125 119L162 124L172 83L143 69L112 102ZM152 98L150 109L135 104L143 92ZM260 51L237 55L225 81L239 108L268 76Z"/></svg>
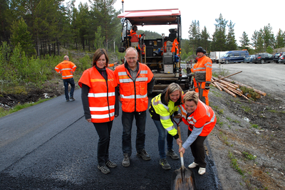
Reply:
<svg viewBox="0 0 285 190"><path fill-rule="evenodd" d="M187 72L180 67L181 14L179 9L152 9L125 11L118 15L122 23L121 46L123 53L131 46L138 50L138 61L145 63L155 77L153 93L161 93L170 83L177 83L183 90L193 87L191 66ZM161 38L145 39L145 36L130 36L132 26L169 26L169 32ZM173 51L175 50L175 51ZM123 60L125 63L125 60Z"/></svg>

